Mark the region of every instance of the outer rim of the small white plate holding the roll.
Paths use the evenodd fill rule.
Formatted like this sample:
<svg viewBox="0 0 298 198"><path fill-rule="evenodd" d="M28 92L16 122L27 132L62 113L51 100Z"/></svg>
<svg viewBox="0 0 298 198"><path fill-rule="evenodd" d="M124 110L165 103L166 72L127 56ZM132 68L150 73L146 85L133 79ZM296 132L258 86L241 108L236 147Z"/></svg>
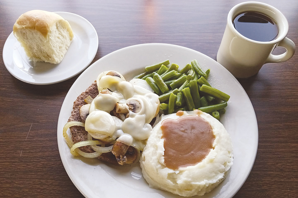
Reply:
<svg viewBox="0 0 298 198"><path fill-rule="evenodd" d="M96 29L94 28L94 26L93 26L93 25L92 25L86 18L84 18L83 16L80 16L80 15L75 14L75 13L72 13L72 12L54 11L53 13L56 13L56 14L61 14L61 13L62 13L62 14L66 14L66 15L69 15L69 16L78 17L78 18L84 20L84 22L86 23L86 25L88 25L89 28L92 29L92 32L95 33L95 35L97 35L97 36L95 37L95 39L96 39L96 40L95 40L95 44L92 45L92 46L90 46L90 45L88 46L88 49L91 49L91 50L92 50L92 53L91 53L92 55L91 55L90 60L89 60L88 62L86 62L86 66L81 67L81 68L78 69L74 74L72 74L72 75L70 75L70 76L67 76L66 78L61 78L61 79L59 79L59 80L54 80L54 81L50 81L50 82L35 82L35 81L26 80L26 79L20 77L19 75L15 74L15 73L10 69L10 67L7 66L7 65L8 65L7 60L12 59L12 57L7 57L7 56L5 56L5 53L10 52L10 51L12 52L12 46L9 45L9 42L11 42L10 44L12 44L12 45L14 45L16 42L18 42L17 39L14 37L14 35L13 35L13 31L12 31L12 32L8 35L6 41L5 41L4 45L3 45L2 60L3 60L3 63L4 63L4 65L5 65L7 71L8 71L13 77L15 77L16 79L18 79L18 80L20 80L20 81L22 81L22 82L28 83L28 84L36 84L36 85L56 84L56 83L63 82L63 81L65 81L65 80L68 80L68 79L70 79L70 78L72 78L72 77L78 75L79 73L81 73L82 71L84 71L84 70L90 65L90 63L94 60L94 57L96 56L97 51L98 51L98 42L99 42L99 40L98 40L98 34L97 34L97 31L96 31ZM65 17L65 16L64 16L63 18L64 18L66 21L68 21L68 17ZM78 25L80 25L80 24L78 24ZM81 26L81 25L80 25L80 26ZM11 37L12 37L12 38L11 38ZM14 38L15 38L15 41L13 42L13 39L14 39ZM11 39L11 40L9 40L9 39ZM95 46L96 46L96 47L95 47ZM93 49L93 48L94 48L94 49ZM11 54L11 55L12 55L12 54ZM12 61L12 62L13 62L13 61ZM13 67L17 67L14 63L12 63L12 64L14 65Z"/></svg>

